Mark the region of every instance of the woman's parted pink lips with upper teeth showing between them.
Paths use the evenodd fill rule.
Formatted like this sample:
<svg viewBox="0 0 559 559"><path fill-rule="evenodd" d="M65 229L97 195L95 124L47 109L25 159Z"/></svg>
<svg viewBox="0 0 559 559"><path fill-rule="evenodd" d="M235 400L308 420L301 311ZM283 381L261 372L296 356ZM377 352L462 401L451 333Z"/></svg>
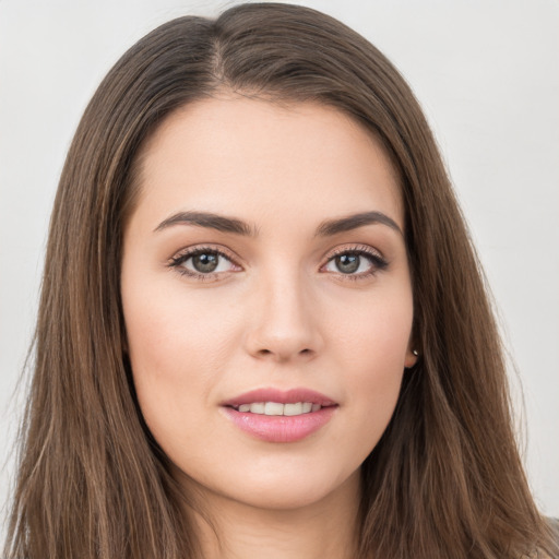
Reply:
<svg viewBox="0 0 559 559"><path fill-rule="evenodd" d="M338 405L308 389L259 389L222 403L233 424L267 442L296 442L325 426Z"/></svg>

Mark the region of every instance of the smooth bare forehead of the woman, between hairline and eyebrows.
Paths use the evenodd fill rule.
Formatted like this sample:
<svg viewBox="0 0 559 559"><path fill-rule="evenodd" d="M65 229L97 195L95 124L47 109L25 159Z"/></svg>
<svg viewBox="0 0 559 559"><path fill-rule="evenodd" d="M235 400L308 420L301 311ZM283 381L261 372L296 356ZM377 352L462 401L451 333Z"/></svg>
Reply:
<svg viewBox="0 0 559 559"><path fill-rule="evenodd" d="M332 107L240 96L171 114L139 157L136 210L252 221L376 210L403 229L397 174L379 140ZM270 221L270 219L267 219Z"/></svg>

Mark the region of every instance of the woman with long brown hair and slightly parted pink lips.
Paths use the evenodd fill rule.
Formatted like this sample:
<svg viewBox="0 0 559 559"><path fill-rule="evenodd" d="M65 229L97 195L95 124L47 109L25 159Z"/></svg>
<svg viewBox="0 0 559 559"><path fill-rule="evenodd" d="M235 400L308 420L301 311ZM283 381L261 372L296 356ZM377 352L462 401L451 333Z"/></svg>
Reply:
<svg viewBox="0 0 559 559"><path fill-rule="evenodd" d="M341 23L245 4L140 40L46 262L7 557L557 554L431 133Z"/></svg>

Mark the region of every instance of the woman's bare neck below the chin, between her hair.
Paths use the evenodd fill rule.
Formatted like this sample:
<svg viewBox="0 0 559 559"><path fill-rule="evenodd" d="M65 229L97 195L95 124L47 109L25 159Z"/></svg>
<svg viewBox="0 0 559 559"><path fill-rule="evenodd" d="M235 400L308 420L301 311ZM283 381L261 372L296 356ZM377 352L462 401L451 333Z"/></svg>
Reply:
<svg viewBox="0 0 559 559"><path fill-rule="evenodd" d="M204 495L194 513L204 559L353 559L357 555L359 473L318 502L262 509Z"/></svg>

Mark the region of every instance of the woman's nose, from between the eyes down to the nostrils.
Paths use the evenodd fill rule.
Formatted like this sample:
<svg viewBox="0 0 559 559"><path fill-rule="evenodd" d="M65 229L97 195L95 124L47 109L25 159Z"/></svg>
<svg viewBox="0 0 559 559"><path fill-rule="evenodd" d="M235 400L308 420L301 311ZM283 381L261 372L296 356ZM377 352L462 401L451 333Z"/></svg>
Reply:
<svg viewBox="0 0 559 559"><path fill-rule="evenodd" d="M323 346L320 308L297 274L262 282L251 306L247 352L274 362L307 361Z"/></svg>

